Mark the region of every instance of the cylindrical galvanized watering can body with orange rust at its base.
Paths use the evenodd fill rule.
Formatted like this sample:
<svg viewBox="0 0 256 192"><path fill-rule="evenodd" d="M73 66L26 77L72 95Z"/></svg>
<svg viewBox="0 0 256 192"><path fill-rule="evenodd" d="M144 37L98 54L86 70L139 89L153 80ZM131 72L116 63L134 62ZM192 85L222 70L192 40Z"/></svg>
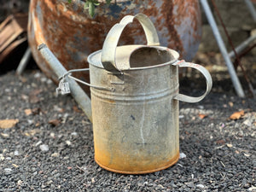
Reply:
<svg viewBox="0 0 256 192"><path fill-rule="evenodd" d="M119 47L116 55L129 58L124 53L137 47ZM109 171L131 174L172 166L179 157L178 102L172 99L178 92L177 67L110 73L97 61L100 55L89 56L90 83L114 91L90 89L96 162Z"/></svg>

